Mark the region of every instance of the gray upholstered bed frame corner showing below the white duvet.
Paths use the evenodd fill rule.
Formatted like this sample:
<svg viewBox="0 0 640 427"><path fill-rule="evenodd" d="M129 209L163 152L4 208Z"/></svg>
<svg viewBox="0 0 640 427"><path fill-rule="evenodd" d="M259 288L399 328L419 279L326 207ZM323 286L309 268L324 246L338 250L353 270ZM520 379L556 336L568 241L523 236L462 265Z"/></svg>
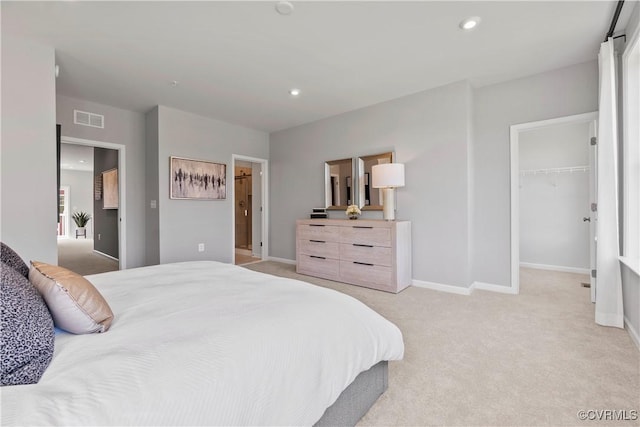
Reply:
<svg viewBox="0 0 640 427"><path fill-rule="evenodd" d="M314 426L355 426L387 389L388 372L386 360L361 372Z"/></svg>

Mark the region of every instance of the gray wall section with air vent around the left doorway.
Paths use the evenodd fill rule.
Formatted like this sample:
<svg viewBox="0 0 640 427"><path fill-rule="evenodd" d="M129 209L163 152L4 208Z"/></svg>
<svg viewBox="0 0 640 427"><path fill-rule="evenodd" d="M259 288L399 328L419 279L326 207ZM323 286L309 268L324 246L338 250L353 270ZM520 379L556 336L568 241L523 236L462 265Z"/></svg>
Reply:
<svg viewBox="0 0 640 427"><path fill-rule="evenodd" d="M104 129L73 124L74 109L104 115ZM63 95L57 96L56 111L63 137L126 147L126 212L121 212L126 220L126 266L145 265L145 115Z"/></svg>

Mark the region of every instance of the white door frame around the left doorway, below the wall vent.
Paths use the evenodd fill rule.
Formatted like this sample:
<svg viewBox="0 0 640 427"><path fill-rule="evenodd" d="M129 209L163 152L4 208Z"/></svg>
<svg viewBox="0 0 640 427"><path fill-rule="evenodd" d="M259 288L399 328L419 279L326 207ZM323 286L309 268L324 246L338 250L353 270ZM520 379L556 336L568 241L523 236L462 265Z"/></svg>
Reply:
<svg viewBox="0 0 640 427"><path fill-rule="evenodd" d="M127 197L126 197L126 147L122 144L114 144L112 142L95 141L91 139L74 138L70 136L62 136L60 138L62 144L84 145L87 147L108 148L118 151L118 268L124 270L127 268Z"/></svg>

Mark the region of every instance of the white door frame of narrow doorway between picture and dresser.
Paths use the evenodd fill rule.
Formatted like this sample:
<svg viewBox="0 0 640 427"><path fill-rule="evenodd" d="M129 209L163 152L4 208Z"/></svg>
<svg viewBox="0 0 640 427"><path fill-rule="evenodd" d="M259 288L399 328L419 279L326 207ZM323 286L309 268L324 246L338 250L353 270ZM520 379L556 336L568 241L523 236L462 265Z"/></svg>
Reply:
<svg viewBox="0 0 640 427"><path fill-rule="evenodd" d="M250 157L244 156L242 154L232 154L231 155L231 174L235 173L236 170L236 161L244 161L251 163L259 163L262 167L262 176L260 177L260 191L262 192L262 220L260 221L260 232L261 232L261 242L262 242L262 250L260 251L260 259L263 261L269 258L269 160L261 159L258 157ZM236 263L236 233L235 233L235 223L236 223L236 182L235 179L228 180L231 181L231 223L234 225L233 231L231 233L231 263ZM252 215L255 215L256 209L255 206L253 208ZM255 242L254 242L255 244Z"/></svg>

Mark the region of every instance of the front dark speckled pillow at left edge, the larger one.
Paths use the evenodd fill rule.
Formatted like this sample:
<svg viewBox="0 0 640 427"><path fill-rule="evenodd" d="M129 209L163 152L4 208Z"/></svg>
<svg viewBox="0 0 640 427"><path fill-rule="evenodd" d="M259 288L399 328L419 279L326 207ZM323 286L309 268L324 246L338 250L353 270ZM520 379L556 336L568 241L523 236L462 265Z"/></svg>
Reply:
<svg viewBox="0 0 640 427"><path fill-rule="evenodd" d="M53 357L53 319L38 290L0 264L0 385L35 384Z"/></svg>

